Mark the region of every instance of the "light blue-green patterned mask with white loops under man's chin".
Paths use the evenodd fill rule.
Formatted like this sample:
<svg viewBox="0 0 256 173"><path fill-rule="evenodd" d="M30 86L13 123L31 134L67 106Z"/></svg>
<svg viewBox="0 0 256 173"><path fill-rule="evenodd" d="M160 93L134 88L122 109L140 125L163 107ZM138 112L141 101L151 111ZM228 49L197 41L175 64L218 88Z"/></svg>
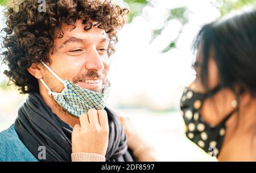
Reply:
<svg viewBox="0 0 256 173"><path fill-rule="evenodd" d="M85 88L75 85L75 83L61 79L52 69L50 69L46 64L44 66L64 85L64 89L61 92L53 92L46 85L43 79L40 81L47 88L48 94L52 95L56 102L65 111L68 111L75 117L80 117L82 113L87 113L89 109L104 109L106 105L106 100L108 99L110 83L105 82L104 90L102 93L96 91L90 91Z"/></svg>

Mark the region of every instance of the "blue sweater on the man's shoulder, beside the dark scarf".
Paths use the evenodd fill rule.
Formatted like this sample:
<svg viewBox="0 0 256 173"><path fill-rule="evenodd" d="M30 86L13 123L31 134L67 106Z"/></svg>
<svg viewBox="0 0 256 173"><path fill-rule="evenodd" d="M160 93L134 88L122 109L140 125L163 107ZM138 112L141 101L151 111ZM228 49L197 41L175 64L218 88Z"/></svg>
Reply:
<svg viewBox="0 0 256 173"><path fill-rule="evenodd" d="M14 125L0 132L1 162L38 162L27 147L20 141Z"/></svg>

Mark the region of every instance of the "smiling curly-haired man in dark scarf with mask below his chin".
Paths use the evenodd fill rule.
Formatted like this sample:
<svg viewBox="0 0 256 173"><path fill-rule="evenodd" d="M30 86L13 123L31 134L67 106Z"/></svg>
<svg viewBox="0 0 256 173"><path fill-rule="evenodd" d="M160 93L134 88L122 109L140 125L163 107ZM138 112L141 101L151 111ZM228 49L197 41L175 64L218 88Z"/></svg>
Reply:
<svg viewBox="0 0 256 173"><path fill-rule="evenodd" d="M0 161L134 161L105 107L109 56L127 9L101 0L18 2L6 10L4 73L28 94L0 133Z"/></svg>

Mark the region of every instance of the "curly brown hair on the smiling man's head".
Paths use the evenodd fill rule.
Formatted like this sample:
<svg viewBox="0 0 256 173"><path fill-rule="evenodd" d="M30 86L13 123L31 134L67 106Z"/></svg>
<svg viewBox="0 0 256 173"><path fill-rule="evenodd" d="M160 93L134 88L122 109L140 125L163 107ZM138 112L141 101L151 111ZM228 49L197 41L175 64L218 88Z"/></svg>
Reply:
<svg viewBox="0 0 256 173"><path fill-rule="evenodd" d="M19 2L16 10L10 7L5 11L2 60L9 70L3 73L22 94L39 91L37 79L27 69L32 63L49 62L53 41L63 37L61 24L75 28L76 20L81 19L86 31L92 26L104 29L110 38L110 56L117 43L117 29L125 24L129 12L108 0L46 0L44 12L39 12L39 5L38 0L27 0Z"/></svg>

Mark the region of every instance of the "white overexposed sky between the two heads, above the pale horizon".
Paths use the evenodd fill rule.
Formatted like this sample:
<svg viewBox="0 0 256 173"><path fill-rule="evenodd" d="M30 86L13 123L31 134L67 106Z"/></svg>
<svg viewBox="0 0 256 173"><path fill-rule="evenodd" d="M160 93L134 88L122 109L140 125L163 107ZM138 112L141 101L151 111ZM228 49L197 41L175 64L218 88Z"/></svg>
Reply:
<svg viewBox="0 0 256 173"><path fill-rule="evenodd" d="M109 78L113 106L148 107L166 110L177 108L182 88L193 81L191 43L200 27L220 16L216 1L156 1L119 31L117 52L112 57ZM217 1L218 2L218 1ZM168 10L187 6L189 22L185 25L176 49L160 53L175 39L181 23L171 20L162 35L151 44L151 32L163 26Z"/></svg>

